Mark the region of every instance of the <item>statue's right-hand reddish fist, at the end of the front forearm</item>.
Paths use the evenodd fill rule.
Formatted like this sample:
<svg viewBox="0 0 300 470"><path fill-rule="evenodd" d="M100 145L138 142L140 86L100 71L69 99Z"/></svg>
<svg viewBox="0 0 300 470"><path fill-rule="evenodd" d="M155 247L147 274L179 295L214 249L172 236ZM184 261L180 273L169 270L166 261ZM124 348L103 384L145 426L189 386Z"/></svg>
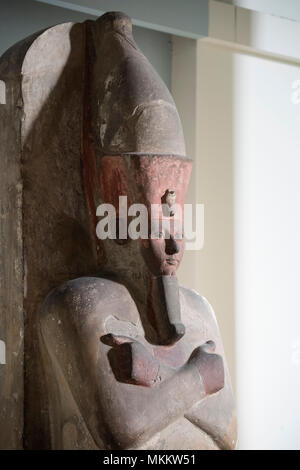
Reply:
<svg viewBox="0 0 300 470"><path fill-rule="evenodd" d="M215 349L215 343L207 341L194 349L189 359L189 363L197 367L207 395L224 387L223 359L219 354L214 354Z"/></svg>

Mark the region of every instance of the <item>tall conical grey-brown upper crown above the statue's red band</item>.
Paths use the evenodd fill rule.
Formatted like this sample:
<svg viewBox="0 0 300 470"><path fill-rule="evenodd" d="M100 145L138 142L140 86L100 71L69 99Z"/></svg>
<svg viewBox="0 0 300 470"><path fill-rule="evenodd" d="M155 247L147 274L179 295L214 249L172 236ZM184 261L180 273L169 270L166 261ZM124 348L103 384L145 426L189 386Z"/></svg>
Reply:
<svg viewBox="0 0 300 470"><path fill-rule="evenodd" d="M185 155L172 96L132 37L131 20L107 13L87 23L91 126L98 155ZM93 103L98 103L93 106Z"/></svg>

